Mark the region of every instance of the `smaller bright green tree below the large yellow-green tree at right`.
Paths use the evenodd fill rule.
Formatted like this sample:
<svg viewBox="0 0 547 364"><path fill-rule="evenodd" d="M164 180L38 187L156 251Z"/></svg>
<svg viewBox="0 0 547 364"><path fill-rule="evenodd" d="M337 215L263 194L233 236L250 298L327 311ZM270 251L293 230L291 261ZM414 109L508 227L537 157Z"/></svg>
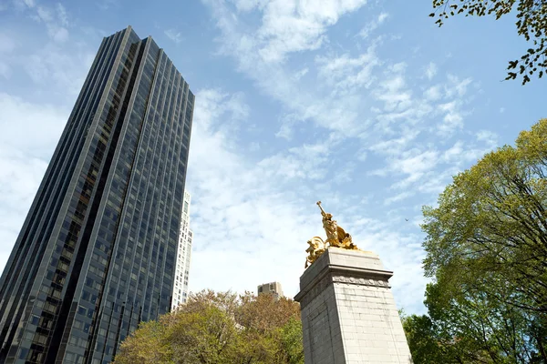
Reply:
<svg viewBox="0 0 547 364"><path fill-rule="evenodd" d="M525 312L491 301L465 277L441 277L426 290L426 307L443 359L464 363L528 363L534 350ZM508 293L502 287L497 295Z"/></svg>

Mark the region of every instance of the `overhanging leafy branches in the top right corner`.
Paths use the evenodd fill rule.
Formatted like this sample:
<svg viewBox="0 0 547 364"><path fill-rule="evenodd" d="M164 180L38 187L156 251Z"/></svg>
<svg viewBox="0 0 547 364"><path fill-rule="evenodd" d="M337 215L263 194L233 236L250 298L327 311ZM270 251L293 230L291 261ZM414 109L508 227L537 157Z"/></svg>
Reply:
<svg viewBox="0 0 547 364"><path fill-rule="evenodd" d="M520 59L509 62L508 76L505 79L522 76L522 85L530 82L530 76L537 74L542 78L547 67L547 1L545 0L459 0L459 4L450 0L433 0L435 11L429 16L438 17L436 24L443 25L444 19L449 16L465 14L484 16L492 15L496 19L517 11L517 32L524 36L526 41L532 41L532 47Z"/></svg>

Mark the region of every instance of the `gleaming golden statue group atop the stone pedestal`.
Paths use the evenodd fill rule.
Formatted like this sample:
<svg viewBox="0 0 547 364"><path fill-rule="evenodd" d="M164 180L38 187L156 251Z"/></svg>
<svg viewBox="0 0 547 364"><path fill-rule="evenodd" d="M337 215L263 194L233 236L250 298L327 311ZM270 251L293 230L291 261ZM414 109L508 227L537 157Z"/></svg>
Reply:
<svg viewBox="0 0 547 364"><path fill-rule="evenodd" d="M342 227L339 227L336 220L333 220L332 214L326 213L323 207L321 207L321 201L317 201L317 206L321 209L321 215L323 216L323 228L325 228L326 240L323 241L319 237L308 240L309 247L305 251L309 255L305 259L304 268L308 267L308 263L312 264L315 262L315 259L319 258L330 247L360 250L352 242L351 235L346 233Z"/></svg>

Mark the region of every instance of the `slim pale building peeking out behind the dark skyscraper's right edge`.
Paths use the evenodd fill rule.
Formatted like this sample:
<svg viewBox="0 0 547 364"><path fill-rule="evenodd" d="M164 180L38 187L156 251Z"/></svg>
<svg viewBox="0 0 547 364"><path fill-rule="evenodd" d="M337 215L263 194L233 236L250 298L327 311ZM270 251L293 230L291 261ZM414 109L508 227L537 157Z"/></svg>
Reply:
<svg viewBox="0 0 547 364"><path fill-rule="evenodd" d="M190 204L191 196L184 191L184 203L181 216L181 233L179 235L179 248L177 263L175 264L175 280L173 284L172 308L177 308L186 303L188 297L188 271L190 270L191 239L193 238L190 229Z"/></svg>

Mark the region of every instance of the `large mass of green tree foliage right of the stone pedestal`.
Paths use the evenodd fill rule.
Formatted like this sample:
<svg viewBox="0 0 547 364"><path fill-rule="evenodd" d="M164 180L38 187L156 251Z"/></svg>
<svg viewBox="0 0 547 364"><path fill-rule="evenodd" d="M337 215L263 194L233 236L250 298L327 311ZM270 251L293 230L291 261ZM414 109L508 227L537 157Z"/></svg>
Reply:
<svg viewBox="0 0 547 364"><path fill-rule="evenodd" d="M447 363L547 362L546 177L543 119L516 147L454 177L439 207L424 207L424 268L434 281L428 317L405 323L411 350L436 344L432 357Z"/></svg>

